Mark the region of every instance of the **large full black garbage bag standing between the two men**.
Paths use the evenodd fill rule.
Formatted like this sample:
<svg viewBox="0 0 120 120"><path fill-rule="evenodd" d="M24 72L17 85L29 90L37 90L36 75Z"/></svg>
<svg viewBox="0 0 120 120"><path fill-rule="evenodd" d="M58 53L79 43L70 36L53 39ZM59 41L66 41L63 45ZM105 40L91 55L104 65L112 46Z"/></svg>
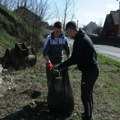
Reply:
<svg viewBox="0 0 120 120"><path fill-rule="evenodd" d="M61 72L56 69L51 70L48 83L49 110L54 114L70 115L74 109L74 99L68 69Z"/></svg>

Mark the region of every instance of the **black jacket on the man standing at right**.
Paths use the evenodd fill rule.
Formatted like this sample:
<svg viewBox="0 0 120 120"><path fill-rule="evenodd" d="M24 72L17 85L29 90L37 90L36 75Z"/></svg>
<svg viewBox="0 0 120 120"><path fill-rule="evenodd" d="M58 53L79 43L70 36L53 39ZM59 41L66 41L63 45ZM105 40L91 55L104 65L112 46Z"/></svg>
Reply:
<svg viewBox="0 0 120 120"><path fill-rule="evenodd" d="M71 57L60 64L58 68L77 64L79 70L85 71L96 66L97 55L88 35L84 31L79 30L74 39Z"/></svg>

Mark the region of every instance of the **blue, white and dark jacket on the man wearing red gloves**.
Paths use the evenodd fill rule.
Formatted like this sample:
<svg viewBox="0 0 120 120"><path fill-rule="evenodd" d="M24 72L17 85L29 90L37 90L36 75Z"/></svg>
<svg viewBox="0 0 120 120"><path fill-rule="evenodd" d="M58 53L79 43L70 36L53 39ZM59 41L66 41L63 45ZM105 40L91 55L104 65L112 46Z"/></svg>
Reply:
<svg viewBox="0 0 120 120"><path fill-rule="evenodd" d="M59 38L55 38L54 33L48 35L44 43L43 56L48 56L52 64L58 64L63 62L63 50L70 55L68 40L64 34Z"/></svg>

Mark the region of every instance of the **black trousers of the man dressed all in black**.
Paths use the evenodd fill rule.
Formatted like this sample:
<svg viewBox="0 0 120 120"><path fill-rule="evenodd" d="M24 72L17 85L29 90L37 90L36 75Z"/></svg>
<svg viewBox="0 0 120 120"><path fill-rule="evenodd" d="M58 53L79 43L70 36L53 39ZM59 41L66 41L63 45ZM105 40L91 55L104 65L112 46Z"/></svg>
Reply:
<svg viewBox="0 0 120 120"><path fill-rule="evenodd" d="M82 72L81 81L81 100L84 106L84 118L83 120L92 119L93 110L93 87L98 78L99 69L94 67L87 71Z"/></svg>

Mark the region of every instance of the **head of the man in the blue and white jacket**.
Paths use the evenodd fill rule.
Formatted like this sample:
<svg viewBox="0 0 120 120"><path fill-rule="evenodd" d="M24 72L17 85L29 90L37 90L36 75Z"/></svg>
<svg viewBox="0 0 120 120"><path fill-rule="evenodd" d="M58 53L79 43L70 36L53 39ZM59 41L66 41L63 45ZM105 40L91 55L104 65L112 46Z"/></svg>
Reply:
<svg viewBox="0 0 120 120"><path fill-rule="evenodd" d="M62 23L61 22L55 22L54 23L54 36L59 37L62 34Z"/></svg>

